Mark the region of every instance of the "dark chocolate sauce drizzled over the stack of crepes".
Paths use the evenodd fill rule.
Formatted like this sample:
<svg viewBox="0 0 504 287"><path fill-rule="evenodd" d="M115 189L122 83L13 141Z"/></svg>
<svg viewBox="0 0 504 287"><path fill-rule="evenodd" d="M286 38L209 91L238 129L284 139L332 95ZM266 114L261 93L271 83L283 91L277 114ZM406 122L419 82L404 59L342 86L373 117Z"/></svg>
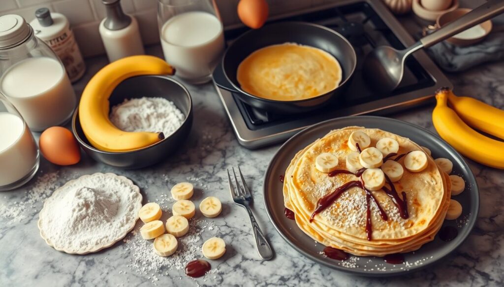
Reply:
<svg viewBox="0 0 504 287"><path fill-rule="evenodd" d="M359 151L359 153L362 152L358 143L355 143L355 146L357 147L357 150ZM401 159L403 156L407 155L408 153L409 152L400 154L394 160L398 161L399 159ZM383 159L383 161L385 162L389 158L396 156L396 155L397 155L397 153L390 153ZM336 176L337 174L341 174L341 173L354 174L355 176L359 177L360 180L348 181L345 184L336 188L332 193L327 194L327 195L323 196L321 199L319 199L319 201L317 201L317 207L315 208L315 210L311 214L309 221L312 222L313 218L317 214L321 213L326 208L331 206L348 189L350 189L352 187L360 187L364 190L364 192L366 194L366 236L367 236L367 240L371 241L372 240L372 224L371 224L371 204L369 203L370 200L373 201L374 205L378 209L380 216L382 217L383 220L388 221L389 217L387 216L387 213L382 208L380 203L376 200L376 198L370 192L370 190L365 188L364 180L362 179L362 176L361 176L365 170L366 170L366 168L363 167L354 173L354 172L351 172L346 169L336 169L336 170L333 170L330 173L328 173L328 176L330 176L330 177ZM382 187L382 190L392 199L394 205L397 207L397 209L399 211L400 216L403 219L409 218L406 193L405 192L401 193L401 195L402 195L402 199L401 199L399 197L399 195L397 194L396 187L394 186L394 183L392 182L392 180L390 180L390 178L387 176L387 174L384 174L384 175L385 175L385 179L386 179L387 183L390 185L390 189L388 187L384 186L384 187ZM287 216L287 209L285 211L285 215Z"/></svg>

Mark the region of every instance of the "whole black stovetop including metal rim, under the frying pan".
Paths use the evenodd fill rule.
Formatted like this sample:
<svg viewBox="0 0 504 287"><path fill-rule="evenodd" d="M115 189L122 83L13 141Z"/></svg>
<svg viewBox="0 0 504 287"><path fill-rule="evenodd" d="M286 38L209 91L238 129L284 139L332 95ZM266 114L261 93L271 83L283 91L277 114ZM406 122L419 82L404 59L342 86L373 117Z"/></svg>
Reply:
<svg viewBox="0 0 504 287"><path fill-rule="evenodd" d="M279 21L317 23L339 32L354 47L357 68L350 86L339 101L313 112L295 115L277 115L250 107L216 84L236 137L244 147L254 149L283 142L310 125L336 117L394 113L426 103L438 87L452 87L423 51L416 52L406 61L404 78L392 93L377 94L365 85L360 67L370 50L381 45L404 49L414 43L381 1L341 1L301 15L284 15L269 23ZM247 30L245 27L230 28L224 36L230 43ZM218 65L217 69L221 68Z"/></svg>

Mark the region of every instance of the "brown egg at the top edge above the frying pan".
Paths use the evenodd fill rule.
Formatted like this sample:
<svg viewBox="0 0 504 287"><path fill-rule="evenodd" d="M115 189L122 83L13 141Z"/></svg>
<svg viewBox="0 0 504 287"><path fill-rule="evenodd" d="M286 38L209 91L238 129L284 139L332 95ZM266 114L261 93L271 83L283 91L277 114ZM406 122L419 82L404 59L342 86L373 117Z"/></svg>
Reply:
<svg viewBox="0 0 504 287"><path fill-rule="evenodd" d="M261 28L268 19L269 7L266 0L240 0L238 17L252 29Z"/></svg>

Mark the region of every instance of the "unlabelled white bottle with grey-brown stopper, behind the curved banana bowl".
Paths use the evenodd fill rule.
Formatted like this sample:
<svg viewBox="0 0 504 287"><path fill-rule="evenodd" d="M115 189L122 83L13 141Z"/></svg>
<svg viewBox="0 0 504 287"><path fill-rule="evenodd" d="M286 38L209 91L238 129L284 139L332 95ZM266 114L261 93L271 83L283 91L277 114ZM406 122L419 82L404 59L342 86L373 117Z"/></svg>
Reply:
<svg viewBox="0 0 504 287"><path fill-rule="evenodd" d="M145 54L138 22L135 17L122 12L120 0L102 0L107 17L100 23L100 36L108 60Z"/></svg>

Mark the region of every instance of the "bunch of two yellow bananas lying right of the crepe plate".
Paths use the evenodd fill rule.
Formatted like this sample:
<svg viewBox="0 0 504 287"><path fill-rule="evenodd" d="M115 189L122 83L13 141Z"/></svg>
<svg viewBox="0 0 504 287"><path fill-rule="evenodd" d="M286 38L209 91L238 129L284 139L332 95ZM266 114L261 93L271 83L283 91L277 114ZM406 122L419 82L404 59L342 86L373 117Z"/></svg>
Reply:
<svg viewBox="0 0 504 287"><path fill-rule="evenodd" d="M504 142L474 130L504 139L504 111L472 98L457 97L449 88L438 89L436 100L432 123L437 133L466 157L504 169Z"/></svg>

